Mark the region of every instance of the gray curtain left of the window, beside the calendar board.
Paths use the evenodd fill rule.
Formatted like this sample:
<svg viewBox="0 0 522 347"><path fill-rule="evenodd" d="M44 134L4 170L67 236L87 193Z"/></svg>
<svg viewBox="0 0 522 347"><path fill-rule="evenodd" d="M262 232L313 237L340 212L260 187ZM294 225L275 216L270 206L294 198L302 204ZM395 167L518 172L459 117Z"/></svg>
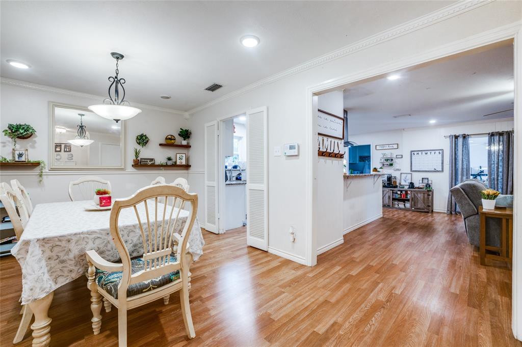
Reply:
<svg viewBox="0 0 522 347"><path fill-rule="evenodd" d="M469 137L466 134L449 137L449 189L471 177L469 165ZM446 213L455 214L459 209L452 193L448 191Z"/></svg>

